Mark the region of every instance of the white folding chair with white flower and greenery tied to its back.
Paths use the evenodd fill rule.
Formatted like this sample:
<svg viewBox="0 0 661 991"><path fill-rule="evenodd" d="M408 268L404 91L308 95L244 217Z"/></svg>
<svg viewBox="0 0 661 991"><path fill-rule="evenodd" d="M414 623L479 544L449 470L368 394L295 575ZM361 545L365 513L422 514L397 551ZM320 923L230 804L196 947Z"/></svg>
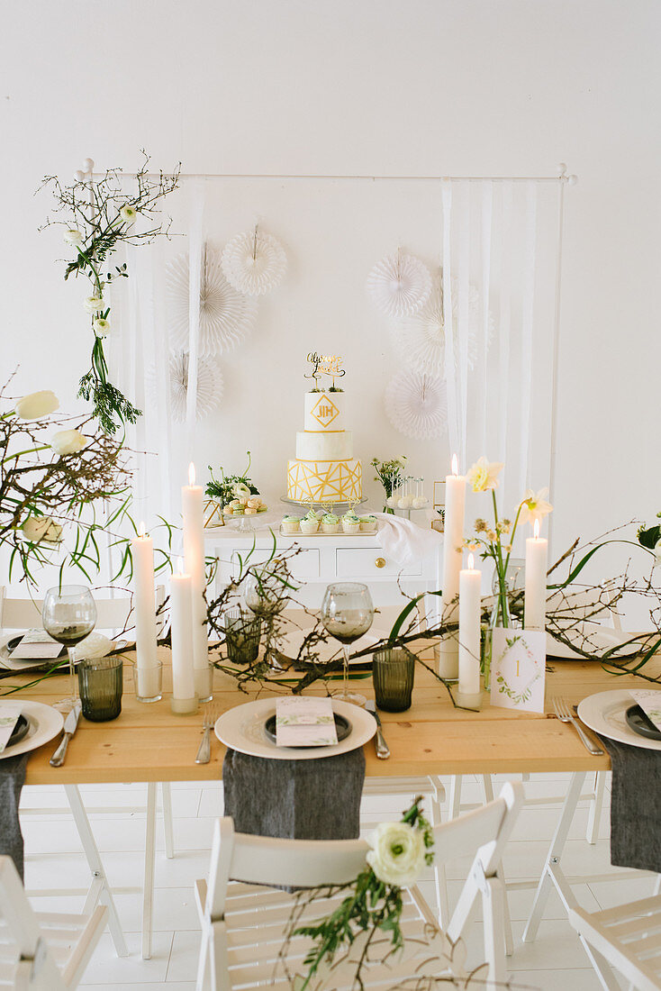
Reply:
<svg viewBox="0 0 661 991"><path fill-rule="evenodd" d="M511 833L523 799L520 784L507 784L495 802L434 829L436 859L447 862L472 856L473 863L447 928L457 942L466 931L476 902L482 901L485 927L486 976L484 986L493 989L504 980L502 905L504 891L497 873L503 847ZM197 881L195 894L202 937L197 971L197 991L230 991L269 984L290 988L286 974L275 975L283 934L290 918L293 896L264 886L317 887L352 881L365 867L365 840L330 841L271 839L235 833L230 819L218 820L214 829L208 882ZM235 879L240 879L236 881ZM307 919L318 919L338 904L315 899ZM416 938L435 927L434 914L417 887L406 889L404 937L411 947ZM290 970L302 967L310 943L292 939L287 952ZM433 949L432 949L433 952ZM430 954L431 955L431 954ZM280 961L281 962L281 961ZM398 966L400 962L400 966ZM396 961L397 969L373 963L365 973L366 986L412 977L410 961ZM355 971L348 963L347 978ZM304 971L304 967L303 967ZM334 979L340 976L334 972ZM335 983L335 981L334 981ZM350 983L346 980L347 985ZM340 983L338 986L344 986Z"/></svg>

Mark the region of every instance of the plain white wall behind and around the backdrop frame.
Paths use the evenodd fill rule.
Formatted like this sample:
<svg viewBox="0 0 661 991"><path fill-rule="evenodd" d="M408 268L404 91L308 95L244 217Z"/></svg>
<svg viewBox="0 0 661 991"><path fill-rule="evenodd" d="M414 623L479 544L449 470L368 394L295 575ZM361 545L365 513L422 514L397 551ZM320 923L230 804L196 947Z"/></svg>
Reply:
<svg viewBox="0 0 661 991"><path fill-rule="evenodd" d="M80 289L61 279L59 233L36 233L44 173L66 177L88 155L131 169L141 147L190 172L550 174L564 161L580 181L567 193L558 549L661 508L657 0L2 0L0 10L0 354L3 380L20 365L16 392L53 385L72 407L86 368ZM351 366L348 340L364 329L349 326L331 277L343 239L360 235L357 195L332 237L309 217L310 243L294 246L295 268L307 251L329 275L317 276L306 320L283 320L283 354L299 366L310 347L330 347L334 327ZM404 196L393 190L398 218ZM254 211L249 198L248 223ZM373 245L387 226L377 241L369 232ZM392 230L395 243L414 235ZM268 338L264 350L278 346ZM252 369L256 392L276 374ZM365 461L411 446L381 432L386 363L376 370L354 424ZM275 493L300 406L286 396L275 444L257 412L233 425L232 456L262 457ZM222 460L213 424L206 436ZM438 475L438 450L413 447L416 473Z"/></svg>

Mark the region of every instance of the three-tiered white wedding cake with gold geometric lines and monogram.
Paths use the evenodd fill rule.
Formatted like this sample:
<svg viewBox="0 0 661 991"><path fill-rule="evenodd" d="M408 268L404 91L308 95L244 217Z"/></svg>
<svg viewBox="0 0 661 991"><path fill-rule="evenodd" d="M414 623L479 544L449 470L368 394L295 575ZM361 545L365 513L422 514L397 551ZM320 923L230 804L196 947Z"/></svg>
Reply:
<svg viewBox="0 0 661 991"><path fill-rule="evenodd" d="M351 430L344 429L342 391L306 392L304 430L296 433L296 458L287 462L287 497L296 502L358 502L361 463Z"/></svg>

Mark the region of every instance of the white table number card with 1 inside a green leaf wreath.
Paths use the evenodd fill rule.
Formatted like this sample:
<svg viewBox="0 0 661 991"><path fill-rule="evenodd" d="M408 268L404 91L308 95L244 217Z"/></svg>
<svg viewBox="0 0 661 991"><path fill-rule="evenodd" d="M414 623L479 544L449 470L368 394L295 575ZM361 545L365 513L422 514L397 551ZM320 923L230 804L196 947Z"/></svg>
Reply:
<svg viewBox="0 0 661 991"><path fill-rule="evenodd" d="M496 627L492 642L492 706L544 712L546 633Z"/></svg>

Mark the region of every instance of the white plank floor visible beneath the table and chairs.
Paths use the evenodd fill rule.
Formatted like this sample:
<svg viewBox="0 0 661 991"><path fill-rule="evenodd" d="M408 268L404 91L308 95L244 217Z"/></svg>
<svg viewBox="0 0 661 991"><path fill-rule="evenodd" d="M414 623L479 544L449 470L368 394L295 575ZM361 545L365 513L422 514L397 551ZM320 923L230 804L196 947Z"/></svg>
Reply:
<svg viewBox="0 0 661 991"><path fill-rule="evenodd" d="M556 777L537 775L526 783L530 796L545 797L562 794L567 775ZM145 787L87 786L82 789L86 805L126 806L144 800ZM477 780L464 783L464 801L481 801ZM195 878L204 877L208 865L209 842L214 818L221 814L220 785L176 783L172 786L174 813L175 856L165 859L163 834L158 835L156 866L154 952L151 960L141 957L141 897L119 894L116 903L129 944L130 955L120 959L115 955L110 937L105 934L85 973L87 988L120 988L122 991L164 988L167 991L188 991L194 988L195 963L198 948L197 918L192 895ZM26 788L24 806L64 806L61 789ZM607 805L607 795L606 795ZM397 818L398 805L380 805L369 810L381 819ZM504 868L508 880L532 878L539 875L548 841L558 817L558 807L534 806L524 809L507 851ZM116 887L135 887L142 883L144 850L144 816L114 814L91 816L92 827L110 882ZM607 840L608 811L605 809L601 837L595 846L585 840L587 808L580 808L575 818L563 858L568 874L611 872L613 880L581 884L575 891L579 902L597 910L616 905L631 898L651 894L654 878L640 877L616 881L616 868L609 865ZM85 888L88 883L86 864L80 852L76 831L68 817L26 817L23 821L26 840L26 887L30 889ZM461 888L462 869L457 864L449 873L450 897ZM422 881L422 888L433 904L433 886ZM538 988L540 991L593 991L600 984L589 965L578 938L568 925L562 905L553 894L545 919L534 943L521 943L521 934L532 901L532 890L510 893L509 906L514 931L514 954L509 959L512 985L515 988ZM80 911L81 896L39 898L35 906L43 910ZM480 928L474 924L469 937L470 959L480 962Z"/></svg>

